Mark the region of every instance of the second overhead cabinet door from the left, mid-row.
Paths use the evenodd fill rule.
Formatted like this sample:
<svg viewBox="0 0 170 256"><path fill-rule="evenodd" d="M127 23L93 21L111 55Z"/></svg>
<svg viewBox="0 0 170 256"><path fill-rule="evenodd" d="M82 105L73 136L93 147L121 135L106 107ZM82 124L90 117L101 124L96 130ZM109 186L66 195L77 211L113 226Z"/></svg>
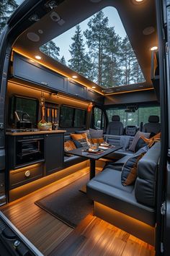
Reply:
<svg viewBox="0 0 170 256"><path fill-rule="evenodd" d="M68 80L68 93L79 98L86 98L86 88Z"/></svg>

